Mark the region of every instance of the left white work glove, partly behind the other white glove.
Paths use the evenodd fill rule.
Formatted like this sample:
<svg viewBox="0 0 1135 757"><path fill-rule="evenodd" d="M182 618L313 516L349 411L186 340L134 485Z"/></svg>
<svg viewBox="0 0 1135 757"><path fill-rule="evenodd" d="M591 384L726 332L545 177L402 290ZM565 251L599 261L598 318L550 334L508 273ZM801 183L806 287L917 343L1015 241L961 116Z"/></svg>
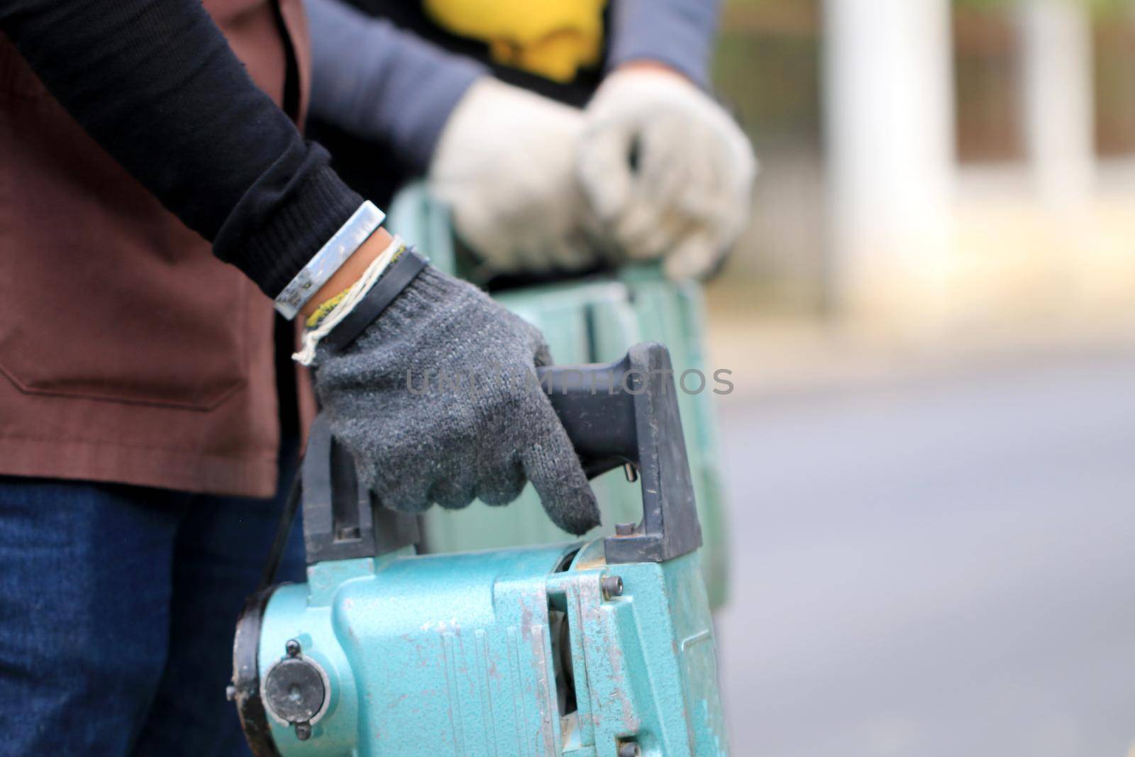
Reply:
<svg viewBox="0 0 1135 757"><path fill-rule="evenodd" d="M594 262L574 170L582 112L494 78L454 108L429 166L461 238L498 272Z"/></svg>

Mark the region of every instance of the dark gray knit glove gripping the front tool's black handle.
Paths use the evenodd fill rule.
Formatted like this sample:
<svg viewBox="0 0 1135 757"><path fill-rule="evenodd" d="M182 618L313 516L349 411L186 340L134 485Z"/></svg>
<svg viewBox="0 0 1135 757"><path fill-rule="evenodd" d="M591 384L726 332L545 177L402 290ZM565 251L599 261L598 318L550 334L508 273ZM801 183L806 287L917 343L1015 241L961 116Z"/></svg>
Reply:
<svg viewBox="0 0 1135 757"><path fill-rule="evenodd" d="M583 533L599 510L532 378L548 363L538 329L427 266L342 352L320 345L316 390L381 504L504 505L527 478L556 525Z"/></svg>

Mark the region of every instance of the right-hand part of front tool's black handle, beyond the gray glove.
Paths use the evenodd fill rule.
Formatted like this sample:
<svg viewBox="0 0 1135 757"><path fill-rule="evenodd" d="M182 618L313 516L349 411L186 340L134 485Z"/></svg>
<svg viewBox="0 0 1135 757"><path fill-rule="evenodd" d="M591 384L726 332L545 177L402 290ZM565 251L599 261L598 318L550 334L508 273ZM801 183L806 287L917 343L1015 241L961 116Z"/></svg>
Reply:
<svg viewBox="0 0 1135 757"><path fill-rule="evenodd" d="M666 347L637 344L613 363L553 365L537 376L588 477L625 463L638 470L642 522L607 537L607 562L662 562L697 549L701 528Z"/></svg>

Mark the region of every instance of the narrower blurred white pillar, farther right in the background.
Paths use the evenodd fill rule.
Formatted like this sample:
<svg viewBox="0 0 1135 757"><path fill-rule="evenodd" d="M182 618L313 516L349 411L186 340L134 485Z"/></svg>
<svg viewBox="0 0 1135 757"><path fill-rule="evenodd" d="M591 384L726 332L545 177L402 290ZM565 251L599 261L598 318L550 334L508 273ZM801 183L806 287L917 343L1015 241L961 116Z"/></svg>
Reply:
<svg viewBox="0 0 1135 757"><path fill-rule="evenodd" d="M1092 31L1083 0L1025 0L1022 113L1040 197L1053 209L1088 200L1095 173Z"/></svg>

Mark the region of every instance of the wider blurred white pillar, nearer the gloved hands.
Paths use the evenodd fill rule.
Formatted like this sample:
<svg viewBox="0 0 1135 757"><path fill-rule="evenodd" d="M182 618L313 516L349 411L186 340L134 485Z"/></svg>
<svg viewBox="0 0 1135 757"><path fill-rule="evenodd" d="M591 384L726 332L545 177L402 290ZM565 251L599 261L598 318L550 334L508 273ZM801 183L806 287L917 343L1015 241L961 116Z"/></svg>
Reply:
<svg viewBox="0 0 1135 757"><path fill-rule="evenodd" d="M885 313L923 297L947 266L949 0L825 0L824 31L833 294Z"/></svg>

